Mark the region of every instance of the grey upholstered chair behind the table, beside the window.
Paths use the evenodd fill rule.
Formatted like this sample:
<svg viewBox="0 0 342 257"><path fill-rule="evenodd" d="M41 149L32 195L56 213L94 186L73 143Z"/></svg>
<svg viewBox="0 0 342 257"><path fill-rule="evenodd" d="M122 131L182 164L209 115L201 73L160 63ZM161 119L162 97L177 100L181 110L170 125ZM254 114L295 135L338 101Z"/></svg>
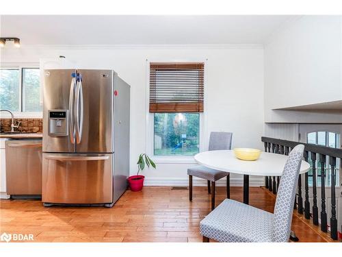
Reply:
<svg viewBox="0 0 342 257"><path fill-rule="evenodd" d="M232 145L231 132L211 132L209 138L209 151L228 150ZM189 175L189 199L192 201L192 176L202 178L208 182L208 193L211 194L211 210L215 208L215 181L226 177L227 198L230 198L229 173L225 171L216 171L204 166L196 166L187 169Z"/></svg>

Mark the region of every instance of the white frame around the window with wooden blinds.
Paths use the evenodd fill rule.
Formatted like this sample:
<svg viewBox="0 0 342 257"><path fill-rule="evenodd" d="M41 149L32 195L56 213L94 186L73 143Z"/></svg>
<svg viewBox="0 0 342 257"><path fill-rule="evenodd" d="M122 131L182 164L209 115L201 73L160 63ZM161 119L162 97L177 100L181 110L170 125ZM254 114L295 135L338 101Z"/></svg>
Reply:
<svg viewBox="0 0 342 257"><path fill-rule="evenodd" d="M153 151L153 144L154 144L154 116L153 113L150 112L150 62L204 62L205 64L205 71L207 69L207 59L202 60L148 60L146 59L146 154L148 156L153 157L153 160L156 163L159 164L195 164L196 161L194 160L194 156L181 156L181 155L175 155L175 156L155 156ZM206 92L206 85L207 85L207 75L205 75L204 80L204 90ZM199 140L200 140L200 149L199 151L206 151L207 149L207 124L206 121L206 97L204 99L204 112L196 112L200 114L200 134L199 134Z"/></svg>

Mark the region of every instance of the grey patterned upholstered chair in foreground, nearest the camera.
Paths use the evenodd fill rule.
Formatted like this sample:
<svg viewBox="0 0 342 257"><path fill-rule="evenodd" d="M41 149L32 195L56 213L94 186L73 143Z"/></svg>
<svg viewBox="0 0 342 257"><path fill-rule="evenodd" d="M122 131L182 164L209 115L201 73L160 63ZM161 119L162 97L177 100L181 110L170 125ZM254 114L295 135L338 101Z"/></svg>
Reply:
<svg viewBox="0 0 342 257"><path fill-rule="evenodd" d="M289 154L280 180L274 213L225 199L200 221L203 242L288 242L291 232L295 188L304 145Z"/></svg>

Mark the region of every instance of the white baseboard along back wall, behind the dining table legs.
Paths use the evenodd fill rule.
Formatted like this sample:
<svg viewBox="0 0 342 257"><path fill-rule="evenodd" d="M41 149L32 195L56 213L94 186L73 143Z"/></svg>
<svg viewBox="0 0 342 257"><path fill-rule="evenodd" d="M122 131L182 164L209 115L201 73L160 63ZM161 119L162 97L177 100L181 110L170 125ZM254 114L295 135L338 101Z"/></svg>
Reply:
<svg viewBox="0 0 342 257"><path fill-rule="evenodd" d="M194 186L207 186L207 181L193 179ZM144 186L188 186L188 178L145 178ZM250 186L263 186L264 178L250 178ZM216 186L226 186L226 180L218 180ZM244 186L243 178L231 178L231 186Z"/></svg>

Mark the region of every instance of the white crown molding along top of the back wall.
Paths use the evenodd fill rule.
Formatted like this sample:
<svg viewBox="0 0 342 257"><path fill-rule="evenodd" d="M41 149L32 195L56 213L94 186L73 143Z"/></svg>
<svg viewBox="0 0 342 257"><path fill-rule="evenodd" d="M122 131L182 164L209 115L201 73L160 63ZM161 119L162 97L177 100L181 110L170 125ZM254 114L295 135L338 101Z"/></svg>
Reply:
<svg viewBox="0 0 342 257"><path fill-rule="evenodd" d="M195 45L21 45L20 49L263 49L263 44L195 44ZM3 48L1 51L20 51Z"/></svg>

